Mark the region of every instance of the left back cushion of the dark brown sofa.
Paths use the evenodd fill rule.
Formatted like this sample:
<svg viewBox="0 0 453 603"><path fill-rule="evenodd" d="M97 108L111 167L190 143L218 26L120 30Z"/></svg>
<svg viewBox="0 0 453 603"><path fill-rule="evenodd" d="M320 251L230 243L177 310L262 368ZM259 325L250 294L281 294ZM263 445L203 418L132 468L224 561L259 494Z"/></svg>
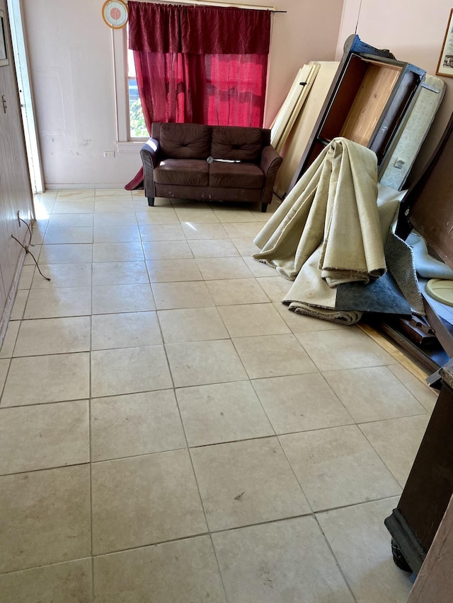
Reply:
<svg viewBox="0 0 453 603"><path fill-rule="evenodd" d="M161 124L159 142L164 157L206 159L211 148L211 128L200 124Z"/></svg>

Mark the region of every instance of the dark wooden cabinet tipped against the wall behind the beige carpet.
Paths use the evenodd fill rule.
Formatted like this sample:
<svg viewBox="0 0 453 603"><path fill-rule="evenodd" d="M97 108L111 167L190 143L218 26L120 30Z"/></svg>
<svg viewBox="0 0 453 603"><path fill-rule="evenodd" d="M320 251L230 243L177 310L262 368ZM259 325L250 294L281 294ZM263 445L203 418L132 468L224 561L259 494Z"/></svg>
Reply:
<svg viewBox="0 0 453 603"><path fill-rule="evenodd" d="M382 170L424 76L423 69L396 61L388 50L369 46L357 35L348 37L290 188L336 136L371 148Z"/></svg>

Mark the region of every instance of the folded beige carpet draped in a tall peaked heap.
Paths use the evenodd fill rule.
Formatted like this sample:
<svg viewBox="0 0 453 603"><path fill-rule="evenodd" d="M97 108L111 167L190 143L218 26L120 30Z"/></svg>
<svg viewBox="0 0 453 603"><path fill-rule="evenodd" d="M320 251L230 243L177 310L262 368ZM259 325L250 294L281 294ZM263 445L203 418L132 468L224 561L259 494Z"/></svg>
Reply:
<svg viewBox="0 0 453 603"><path fill-rule="evenodd" d="M350 316L338 316L335 287L368 283L386 271L375 154L348 139L333 139L254 242L261 251L253 257L294 280L283 300L290 309L357 322L361 313L353 308Z"/></svg>

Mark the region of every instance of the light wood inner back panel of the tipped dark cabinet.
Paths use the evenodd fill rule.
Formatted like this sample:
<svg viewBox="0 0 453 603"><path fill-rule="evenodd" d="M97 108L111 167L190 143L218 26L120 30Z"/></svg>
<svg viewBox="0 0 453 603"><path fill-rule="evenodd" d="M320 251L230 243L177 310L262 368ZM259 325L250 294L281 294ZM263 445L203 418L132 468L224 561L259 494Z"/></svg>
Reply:
<svg viewBox="0 0 453 603"><path fill-rule="evenodd" d="M370 62L340 136L367 146L394 90L401 68Z"/></svg>

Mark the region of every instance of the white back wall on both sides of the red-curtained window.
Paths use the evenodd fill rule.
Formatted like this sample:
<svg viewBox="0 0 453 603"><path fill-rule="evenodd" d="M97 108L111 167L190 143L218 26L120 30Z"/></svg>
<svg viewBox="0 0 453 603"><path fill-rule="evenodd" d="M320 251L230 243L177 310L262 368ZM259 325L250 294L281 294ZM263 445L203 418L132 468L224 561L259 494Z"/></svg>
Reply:
<svg viewBox="0 0 453 603"><path fill-rule="evenodd" d="M138 153L103 158L103 151L115 149L117 125L112 32L101 17L102 4L22 0L42 167L50 188L121 187L141 165ZM273 16L266 126L300 66L333 60L343 0L278 0L275 7L287 13Z"/></svg>

